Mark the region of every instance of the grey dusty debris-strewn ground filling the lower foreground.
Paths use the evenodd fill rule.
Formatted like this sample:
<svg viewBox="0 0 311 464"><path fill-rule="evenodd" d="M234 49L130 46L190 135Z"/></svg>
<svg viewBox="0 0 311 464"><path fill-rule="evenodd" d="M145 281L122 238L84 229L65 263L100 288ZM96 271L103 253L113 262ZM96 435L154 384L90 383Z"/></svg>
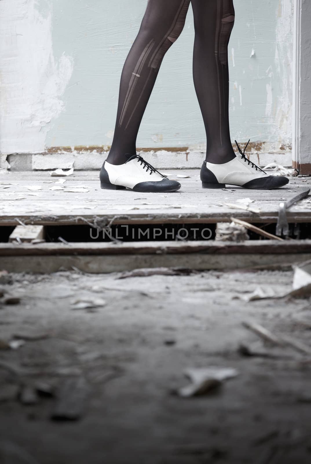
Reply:
<svg viewBox="0 0 311 464"><path fill-rule="evenodd" d="M0 340L48 335L0 350L1 464L311 462L310 357L263 346L242 326L253 320L310 346L310 299L235 298L271 284L289 290L292 271L118 275L15 274L1 285L21 302L0 310ZM85 297L106 303L72 309ZM240 342L258 341L277 357L238 353ZM187 384L185 368L209 366L239 376L208 396L171 394ZM59 392L68 378L88 384L80 420L51 420L55 398L9 399L21 382L44 380Z"/></svg>

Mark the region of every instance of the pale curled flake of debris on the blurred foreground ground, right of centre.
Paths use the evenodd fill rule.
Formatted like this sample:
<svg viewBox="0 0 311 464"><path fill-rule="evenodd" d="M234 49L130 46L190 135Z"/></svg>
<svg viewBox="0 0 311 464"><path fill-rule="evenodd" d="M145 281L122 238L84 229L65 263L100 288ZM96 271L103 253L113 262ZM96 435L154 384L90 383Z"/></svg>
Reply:
<svg viewBox="0 0 311 464"><path fill-rule="evenodd" d="M238 371L232 368L207 367L187 369L184 371L191 384L179 388L176 393L182 398L190 398L211 393L222 385L222 382L238 375Z"/></svg>

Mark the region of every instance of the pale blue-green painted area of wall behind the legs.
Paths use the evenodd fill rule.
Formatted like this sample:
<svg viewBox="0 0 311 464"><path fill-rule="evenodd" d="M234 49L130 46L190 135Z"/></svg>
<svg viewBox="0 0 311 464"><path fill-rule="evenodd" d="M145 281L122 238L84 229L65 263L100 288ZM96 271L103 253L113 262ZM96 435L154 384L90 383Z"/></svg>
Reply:
<svg viewBox="0 0 311 464"><path fill-rule="evenodd" d="M233 140L291 143L292 1L235 0L229 44ZM121 70L146 3L52 0L54 57L71 56L74 71L62 97L65 110L50 124L47 147L111 144ZM190 6L184 31L159 71L138 147L205 143L192 80L193 40Z"/></svg>

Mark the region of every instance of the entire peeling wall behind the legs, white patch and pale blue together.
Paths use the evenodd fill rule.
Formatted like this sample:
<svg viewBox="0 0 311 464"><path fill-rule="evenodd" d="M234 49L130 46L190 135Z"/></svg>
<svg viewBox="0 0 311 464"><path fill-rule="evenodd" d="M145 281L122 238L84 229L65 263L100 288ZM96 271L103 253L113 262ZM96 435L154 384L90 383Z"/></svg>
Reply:
<svg viewBox="0 0 311 464"><path fill-rule="evenodd" d="M120 75L146 0L0 1L0 151L112 141ZM292 142L293 0L235 0L229 45L232 139ZM159 72L138 147L203 147L192 81L193 17ZM262 145L263 143L263 145Z"/></svg>

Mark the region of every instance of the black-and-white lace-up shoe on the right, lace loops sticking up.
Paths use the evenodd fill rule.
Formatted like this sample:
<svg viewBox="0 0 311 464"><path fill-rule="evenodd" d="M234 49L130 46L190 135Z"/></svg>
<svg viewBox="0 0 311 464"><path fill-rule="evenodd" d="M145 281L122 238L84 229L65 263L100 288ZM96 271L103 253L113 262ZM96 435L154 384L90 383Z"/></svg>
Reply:
<svg viewBox="0 0 311 464"><path fill-rule="evenodd" d="M203 188L224 188L226 184L237 185L253 189L273 189L283 187L289 180L285 176L268 175L259 166L249 161L245 156L245 150L241 150L235 141L240 155L223 164L213 164L204 161L200 178Z"/></svg>

